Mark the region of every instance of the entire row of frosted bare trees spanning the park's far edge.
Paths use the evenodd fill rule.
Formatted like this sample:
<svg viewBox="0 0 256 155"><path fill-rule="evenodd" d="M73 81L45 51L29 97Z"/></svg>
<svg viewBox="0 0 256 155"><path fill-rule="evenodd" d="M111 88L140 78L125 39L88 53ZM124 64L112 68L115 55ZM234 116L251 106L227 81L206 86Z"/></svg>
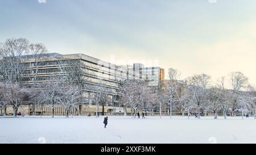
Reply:
<svg viewBox="0 0 256 155"><path fill-rule="evenodd" d="M79 60L60 59L59 75L40 83L39 69L47 57L46 53L43 44L31 44L23 38L7 39L0 44L0 106L5 114L6 107L13 106L13 115L16 116L21 104L32 104L33 115L36 106L43 107L45 104L51 106L52 117L55 104L63 105L67 117L69 112L73 115L74 108L78 108L81 114L81 105L88 100L85 91L89 89L94 90L92 103L96 105L96 116L100 106L113 102L103 83L88 85ZM30 61L24 63L26 59ZM32 83L25 85L24 78L29 78ZM215 119L219 113L225 119L227 114L241 115L242 118L245 114L255 116L255 87L249 84L243 73L232 72L215 82L207 74L197 74L183 80L179 78L180 72L170 68L168 81L164 85L159 83L159 86L152 87L147 85L147 81L119 81L117 93L124 115L127 115L126 108L131 108L134 117L142 110L150 112L150 115L159 112L161 117L166 109L170 118L174 112L188 118L195 112L198 118L208 113L213 113ZM230 89L226 88L226 83L231 86Z"/></svg>

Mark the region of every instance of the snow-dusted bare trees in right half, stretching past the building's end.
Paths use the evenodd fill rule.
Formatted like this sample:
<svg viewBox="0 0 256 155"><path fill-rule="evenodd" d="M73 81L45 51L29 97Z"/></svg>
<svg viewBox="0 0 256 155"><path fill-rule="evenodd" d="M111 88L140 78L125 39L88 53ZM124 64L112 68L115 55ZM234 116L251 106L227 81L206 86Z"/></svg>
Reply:
<svg viewBox="0 0 256 155"><path fill-rule="evenodd" d="M163 107L168 111L170 118L172 113L180 113L188 118L196 113L197 118L214 114L238 116L242 118L256 113L256 91L250 85L248 78L241 72L232 72L229 76L221 77L216 82L211 81L207 74L196 74L194 76L178 80L180 73L177 69L168 69L168 82L165 89L158 86L152 88L146 82L126 81L121 86L121 102L124 107L133 109L134 116L137 111L158 111L162 116ZM227 83L231 86L227 89Z"/></svg>

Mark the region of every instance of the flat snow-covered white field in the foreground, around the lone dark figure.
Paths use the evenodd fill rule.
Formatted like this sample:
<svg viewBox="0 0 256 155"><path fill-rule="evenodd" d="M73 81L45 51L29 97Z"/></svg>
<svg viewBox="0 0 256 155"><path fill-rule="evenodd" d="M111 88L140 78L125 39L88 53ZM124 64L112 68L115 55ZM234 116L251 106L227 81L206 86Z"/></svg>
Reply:
<svg viewBox="0 0 256 155"><path fill-rule="evenodd" d="M0 118L0 143L256 143L256 119Z"/></svg>

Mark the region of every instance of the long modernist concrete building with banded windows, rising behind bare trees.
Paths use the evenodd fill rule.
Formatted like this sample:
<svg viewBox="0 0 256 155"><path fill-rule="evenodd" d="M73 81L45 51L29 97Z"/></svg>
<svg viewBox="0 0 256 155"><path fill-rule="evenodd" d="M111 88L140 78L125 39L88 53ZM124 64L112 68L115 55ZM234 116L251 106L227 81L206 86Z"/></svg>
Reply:
<svg viewBox="0 0 256 155"><path fill-rule="evenodd" d="M32 85L33 81L44 83L67 74L65 68L79 65L82 79L86 83L85 94L88 102L93 100L97 86L104 87L105 93L113 99L112 106L118 97L119 84L127 79L147 81L149 86L159 86L164 79L164 70L159 67L145 68L143 64L115 65L84 54L60 55L47 53L35 64L34 56L23 56L27 73L24 74L22 85ZM36 74L36 76L35 76ZM36 78L36 79L35 79Z"/></svg>

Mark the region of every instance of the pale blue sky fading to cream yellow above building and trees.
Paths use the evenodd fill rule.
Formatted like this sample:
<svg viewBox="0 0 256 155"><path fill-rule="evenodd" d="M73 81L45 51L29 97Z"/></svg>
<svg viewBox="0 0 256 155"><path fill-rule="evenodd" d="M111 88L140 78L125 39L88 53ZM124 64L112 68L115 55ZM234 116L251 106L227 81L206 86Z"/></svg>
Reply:
<svg viewBox="0 0 256 155"><path fill-rule="evenodd" d="M0 42L12 37L105 61L158 60L181 78L240 71L256 84L252 0L1 0Z"/></svg>

